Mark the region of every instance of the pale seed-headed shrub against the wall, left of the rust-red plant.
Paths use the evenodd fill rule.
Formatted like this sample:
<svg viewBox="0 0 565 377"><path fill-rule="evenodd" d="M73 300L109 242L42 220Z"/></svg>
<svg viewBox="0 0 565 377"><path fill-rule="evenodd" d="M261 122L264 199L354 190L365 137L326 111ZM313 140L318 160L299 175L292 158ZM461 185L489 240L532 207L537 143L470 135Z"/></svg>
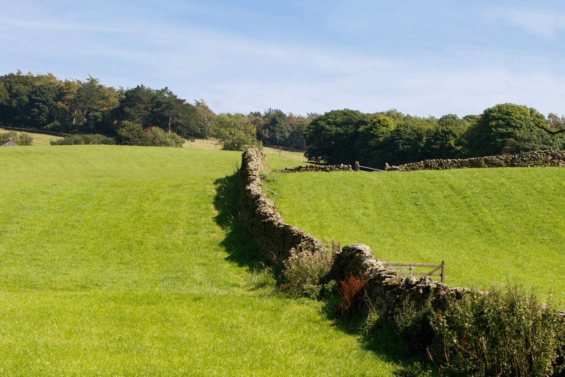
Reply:
<svg viewBox="0 0 565 377"><path fill-rule="evenodd" d="M333 259L333 252L327 248L315 249L305 242L299 244L290 250L290 257L282 262L286 283L280 289L293 296L318 296L320 279L331 270Z"/></svg>

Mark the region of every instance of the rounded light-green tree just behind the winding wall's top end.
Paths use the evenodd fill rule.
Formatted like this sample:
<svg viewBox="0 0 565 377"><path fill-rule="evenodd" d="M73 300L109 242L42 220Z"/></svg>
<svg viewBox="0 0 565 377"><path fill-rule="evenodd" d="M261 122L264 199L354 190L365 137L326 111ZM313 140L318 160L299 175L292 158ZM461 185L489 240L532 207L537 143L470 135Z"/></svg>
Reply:
<svg viewBox="0 0 565 377"><path fill-rule="evenodd" d="M220 114L216 119L214 134L224 150L245 150L251 146L262 147L257 140L255 125L247 123L242 114Z"/></svg>

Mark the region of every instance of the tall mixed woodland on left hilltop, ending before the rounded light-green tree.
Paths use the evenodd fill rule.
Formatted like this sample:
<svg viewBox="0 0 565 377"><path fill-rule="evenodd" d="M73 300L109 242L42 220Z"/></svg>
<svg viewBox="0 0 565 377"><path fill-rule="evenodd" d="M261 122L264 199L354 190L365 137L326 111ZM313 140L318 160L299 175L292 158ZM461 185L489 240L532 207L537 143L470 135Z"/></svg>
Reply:
<svg viewBox="0 0 565 377"><path fill-rule="evenodd" d="M128 121L192 138L210 136L215 116L202 99L192 104L168 88L115 89L92 76L85 81L21 71L0 76L0 124L11 127L115 136Z"/></svg>

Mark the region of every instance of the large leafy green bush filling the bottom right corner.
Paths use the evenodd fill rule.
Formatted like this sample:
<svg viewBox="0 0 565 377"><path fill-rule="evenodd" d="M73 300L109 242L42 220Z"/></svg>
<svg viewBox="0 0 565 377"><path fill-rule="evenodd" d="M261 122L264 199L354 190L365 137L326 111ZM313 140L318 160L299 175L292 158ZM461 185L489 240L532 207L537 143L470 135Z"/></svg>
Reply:
<svg viewBox="0 0 565 377"><path fill-rule="evenodd" d="M475 376L550 376L563 371L559 312L518 285L468 294L431 317L445 369ZM560 361L558 361L558 358Z"/></svg>

